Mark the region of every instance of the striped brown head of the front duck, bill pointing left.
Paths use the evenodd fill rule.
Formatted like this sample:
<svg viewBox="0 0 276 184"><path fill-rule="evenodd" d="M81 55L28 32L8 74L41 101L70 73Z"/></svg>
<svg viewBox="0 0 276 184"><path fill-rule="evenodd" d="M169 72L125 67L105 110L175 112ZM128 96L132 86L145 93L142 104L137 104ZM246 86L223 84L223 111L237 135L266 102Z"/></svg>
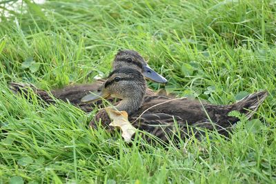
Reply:
<svg viewBox="0 0 276 184"><path fill-rule="evenodd" d="M125 110L130 114L140 107L145 93L146 81L139 70L117 68L110 73L106 83L97 92L84 96L82 101L95 101L111 96L121 99L116 106L117 110Z"/></svg>

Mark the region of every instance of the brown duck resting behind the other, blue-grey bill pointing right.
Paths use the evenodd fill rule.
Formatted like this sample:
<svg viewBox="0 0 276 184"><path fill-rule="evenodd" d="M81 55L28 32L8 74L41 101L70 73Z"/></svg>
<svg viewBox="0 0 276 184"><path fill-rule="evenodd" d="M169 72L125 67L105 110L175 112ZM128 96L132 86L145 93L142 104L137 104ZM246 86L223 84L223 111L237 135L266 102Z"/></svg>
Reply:
<svg viewBox="0 0 276 184"><path fill-rule="evenodd" d="M148 63L146 63L145 59L141 57L141 54L135 50L119 50L119 52L117 52L115 59L112 62L112 70L122 67L129 67L139 70L144 77L157 83L167 83L164 76L161 76L155 72L155 70L152 70ZM46 103L55 103L54 99L60 99L62 101L69 101L72 105L81 108L84 112L91 112L95 107L99 107L102 104L102 101L99 100L93 103L83 103L83 101L90 101L90 92L99 90L105 81L105 79L98 79L94 83L90 84L68 85L65 88L51 90L50 93L46 90L41 90L34 85L26 85L22 83L10 83L10 89L14 93L28 94L28 88L31 88L32 91ZM155 92L150 88L147 88L146 94L148 96L152 96ZM55 98L53 99L52 96ZM109 99L109 101L112 102L114 99Z"/></svg>

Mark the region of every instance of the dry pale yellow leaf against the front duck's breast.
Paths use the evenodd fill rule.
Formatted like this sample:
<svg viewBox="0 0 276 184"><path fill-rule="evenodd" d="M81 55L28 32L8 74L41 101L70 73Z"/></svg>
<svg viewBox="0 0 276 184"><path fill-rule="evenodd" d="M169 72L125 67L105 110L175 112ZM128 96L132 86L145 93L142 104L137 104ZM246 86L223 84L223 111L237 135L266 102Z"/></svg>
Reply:
<svg viewBox="0 0 276 184"><path fill-rule="evenodd" d="M122 132L121 136L127 143L129 143L132 135L136 132L136 128L128 121L128 113L126 111L114 110L110 107L106 108L106 112L112 121L109 125L119 127Z"/></svg>

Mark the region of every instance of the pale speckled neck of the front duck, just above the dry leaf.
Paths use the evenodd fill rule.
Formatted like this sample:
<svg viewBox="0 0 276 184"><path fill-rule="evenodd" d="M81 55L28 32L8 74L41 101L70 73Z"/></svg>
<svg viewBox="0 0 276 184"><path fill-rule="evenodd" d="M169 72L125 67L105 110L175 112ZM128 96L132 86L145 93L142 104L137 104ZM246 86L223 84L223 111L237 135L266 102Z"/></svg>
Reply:
<svg viewBox="0 0 276 184"><path fill-rule="evenodd" d="M132 114L137 111L144 101L144 94L136 94L134 96L122 99L115 108L119 111L126 111L128 114Z"/></svg>

